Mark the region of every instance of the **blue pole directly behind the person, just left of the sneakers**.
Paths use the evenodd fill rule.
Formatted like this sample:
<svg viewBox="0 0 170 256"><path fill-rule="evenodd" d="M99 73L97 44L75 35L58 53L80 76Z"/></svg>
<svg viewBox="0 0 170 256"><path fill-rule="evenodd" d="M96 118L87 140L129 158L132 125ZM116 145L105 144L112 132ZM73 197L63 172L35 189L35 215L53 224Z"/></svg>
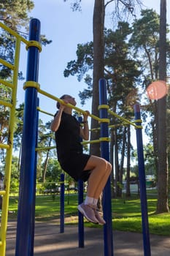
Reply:
<svg viewBox="0 0 170 256"><path fill-rule="evenodd" d="M82 122L82 117L80 116L78 118L79 122ZM80 140L82 141L82 138L80 138ZM83 202L83 190L84 190L84 182L82 180L78 181L78 204L80 205L80 203ZM79 223L78 223L78 231L79 231L79 248L84 248L85 246L85 230L84 230L84 219L83 219L83 215L80 213L80 211L78 211L78 219L79 219Z"/></svg>

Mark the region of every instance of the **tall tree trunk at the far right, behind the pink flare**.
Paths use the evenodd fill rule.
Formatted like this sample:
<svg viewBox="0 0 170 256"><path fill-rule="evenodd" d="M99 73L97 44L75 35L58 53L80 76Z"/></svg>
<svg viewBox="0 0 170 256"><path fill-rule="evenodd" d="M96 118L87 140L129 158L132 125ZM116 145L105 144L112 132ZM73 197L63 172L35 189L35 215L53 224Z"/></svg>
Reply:
<svg viewBox="0 0 170 256"><path fill-rule="evenodd" d="M159 78L166 81L166 0L161 0ZM158 202L157 213L169 211L166 97L158 99Z"/></svg>

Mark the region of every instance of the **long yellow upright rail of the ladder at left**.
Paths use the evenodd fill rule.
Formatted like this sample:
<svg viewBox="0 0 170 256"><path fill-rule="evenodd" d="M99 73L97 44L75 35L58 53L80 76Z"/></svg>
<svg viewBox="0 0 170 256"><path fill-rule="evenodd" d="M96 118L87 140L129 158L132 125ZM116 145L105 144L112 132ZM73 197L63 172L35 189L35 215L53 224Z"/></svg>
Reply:
<svg viewBox="0 0 170 256"><path fill-rule="evenodd" d="M10 178L11 178L11 165L12 165L12 146L14 138L14 127L15 127L15 108L17 103L17 87L18 87L18 69L19 69L19 59L20 59L20 37L17 37L15 42L15 60L14 66L15 70L13 72L12 84L14 89L12 89L12 108L10 110L9 116L9 150L6 154L6 165L4 171L4 186L6 189L6 194L3 196L2 200L2 212L1 212L1 232L0 241L2 241L2 246L0 247L0 255L5 256L6 250L6 236L7 236L7 218L8 218L8 208L9 208L9 188L10 188Z"/></svg>

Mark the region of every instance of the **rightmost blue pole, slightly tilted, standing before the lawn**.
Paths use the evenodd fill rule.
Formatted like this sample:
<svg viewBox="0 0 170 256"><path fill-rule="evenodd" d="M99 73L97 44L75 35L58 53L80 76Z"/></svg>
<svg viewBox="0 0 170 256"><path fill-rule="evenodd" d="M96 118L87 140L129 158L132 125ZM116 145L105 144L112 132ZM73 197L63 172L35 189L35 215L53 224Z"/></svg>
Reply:
<svg viewBox="0 0 170 256"><path fill-rule="evenodd" d="M134 114L136 119L136 125L141 126L140 119L140 107L139 105L134 106ZM137 154L138 154L138 165L139 165L139 187L140 187L140 198L141 198L141 210L142 210L142 233L143 233L143 246L144 256L150 256L150 233L147 216L147 192L146 192L146 180L144 171L144 152L142 142L142 127L136 129L136 140L137 140Z"/></svg>

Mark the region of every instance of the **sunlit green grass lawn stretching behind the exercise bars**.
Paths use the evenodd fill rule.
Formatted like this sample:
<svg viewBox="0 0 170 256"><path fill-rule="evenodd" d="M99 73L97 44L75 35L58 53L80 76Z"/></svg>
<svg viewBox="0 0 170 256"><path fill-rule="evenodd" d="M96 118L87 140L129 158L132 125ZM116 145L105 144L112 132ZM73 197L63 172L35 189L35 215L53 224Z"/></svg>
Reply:
<svg viewBox="0 0 170 256"><path fill-rule="evenodd" d="M147 197L150 233L170 236L170 214L155 214L156 191L149 192ZM17 208L18 200L10 198L9 211L13 213L9 214L9 219L16 219ZM55 198L51 195L37 196L35 216L36 221L58 219L59 222L60 196L56 195ZM65 217L71 217L69 221L66 219L69 224L77 223L77 195L65 196ZM114 230L142 232L141 205L137 195L133 195L128 199L112 199L112 223ZM85 222L85 225L99 227L99 225L93 225L90 222Z"/></svg>

